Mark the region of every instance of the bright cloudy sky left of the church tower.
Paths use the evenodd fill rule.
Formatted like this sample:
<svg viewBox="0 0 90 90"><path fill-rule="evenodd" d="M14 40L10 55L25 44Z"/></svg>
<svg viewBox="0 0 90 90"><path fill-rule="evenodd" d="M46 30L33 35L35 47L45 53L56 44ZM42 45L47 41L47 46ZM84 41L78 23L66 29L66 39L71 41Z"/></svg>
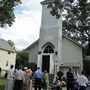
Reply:
<svg viewBox="0 0 90 90"><path fill-rule="evenodd" d="M43 0L22 0L15 7L15 23L11 27L0 28L0 38L12 40L17 50L22 50L39 38L41 25L40 2Z"/></svg>

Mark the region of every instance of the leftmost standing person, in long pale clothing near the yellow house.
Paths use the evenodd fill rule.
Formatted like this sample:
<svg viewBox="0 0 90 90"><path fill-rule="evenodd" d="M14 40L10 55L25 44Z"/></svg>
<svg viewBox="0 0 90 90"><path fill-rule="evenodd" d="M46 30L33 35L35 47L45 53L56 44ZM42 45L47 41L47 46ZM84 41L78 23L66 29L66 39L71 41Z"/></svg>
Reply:
<svg viewBox="0 0 90 90"><path fill-rule="evenodd" d="M5 90L13 90L13 79L14 79L14 66L11 65L10 69L7 72L7 82L5 86Z"/></svg>

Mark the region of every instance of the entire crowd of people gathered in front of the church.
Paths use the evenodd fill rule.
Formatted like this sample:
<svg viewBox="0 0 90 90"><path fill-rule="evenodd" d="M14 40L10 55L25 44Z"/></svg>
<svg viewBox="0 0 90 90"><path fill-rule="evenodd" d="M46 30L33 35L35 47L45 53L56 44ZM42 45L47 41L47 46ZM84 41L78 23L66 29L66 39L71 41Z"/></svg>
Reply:
<svg viewBox="0 0 90 90"><path fill-rule="evenodd" d="M34 90L62 90L63 86L67 87L67 90L86 90L88 79L85 76L85 72L82 71L78 74L77 71L73 72L70 67L66 73L66 78L62 71L58 71L53 78L53 84L51 89L49 88L49 75L47 70L41 71L39 67L35 72L32 72L30 68L19 67L14 70L14 66L11 65L7 74L7 83L5 90L32 90L32 77L35 79Z"/></svg>

